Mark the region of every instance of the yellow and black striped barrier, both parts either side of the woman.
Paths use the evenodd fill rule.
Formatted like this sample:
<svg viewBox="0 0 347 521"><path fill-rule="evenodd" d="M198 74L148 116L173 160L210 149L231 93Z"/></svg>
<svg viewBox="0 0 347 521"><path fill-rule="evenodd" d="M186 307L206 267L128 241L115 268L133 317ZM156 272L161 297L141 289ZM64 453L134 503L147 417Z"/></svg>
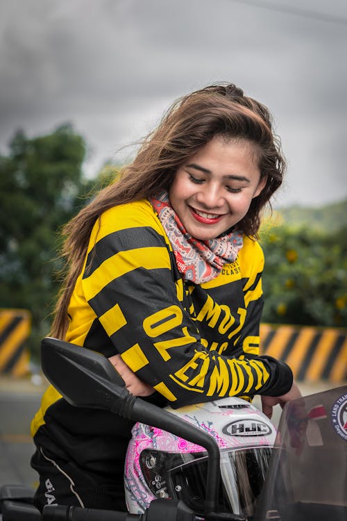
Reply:
<svg viewBox="0 0 347 521"><path fill-rule="evenodd" d="M0 374L28 374L30 329L28 310L0 309ZM260 324L260 339L262 354L287 362L298 381L347 381L347 329Z"/></svg>

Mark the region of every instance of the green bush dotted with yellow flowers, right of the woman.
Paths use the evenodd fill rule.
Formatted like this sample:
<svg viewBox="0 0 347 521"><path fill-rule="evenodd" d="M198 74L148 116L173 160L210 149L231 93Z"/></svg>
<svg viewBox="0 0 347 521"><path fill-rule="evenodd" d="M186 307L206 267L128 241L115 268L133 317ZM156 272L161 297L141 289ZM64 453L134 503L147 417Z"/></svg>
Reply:
<svg viewBox="0 0 347 521"><path fill-rule="evenodd" d="M262 229L263 321L347 326L347 228L322 233L285 224Z"/></svg>

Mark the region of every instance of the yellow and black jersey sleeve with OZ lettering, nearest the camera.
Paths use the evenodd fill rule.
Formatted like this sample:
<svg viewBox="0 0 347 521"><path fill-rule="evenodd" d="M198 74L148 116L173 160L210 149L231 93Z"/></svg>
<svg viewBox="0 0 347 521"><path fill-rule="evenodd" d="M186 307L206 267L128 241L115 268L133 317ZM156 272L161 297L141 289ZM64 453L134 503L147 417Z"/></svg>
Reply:
<svg viewBox="0 0 347 521"><path fill-rule="evenodd" d="M175 408L269 394L288 380L289 367L274 359L206 350L173 273L166 235L149 206L117 207L94 227L82 279L85 298L115 352L140 379Z"/></svg>

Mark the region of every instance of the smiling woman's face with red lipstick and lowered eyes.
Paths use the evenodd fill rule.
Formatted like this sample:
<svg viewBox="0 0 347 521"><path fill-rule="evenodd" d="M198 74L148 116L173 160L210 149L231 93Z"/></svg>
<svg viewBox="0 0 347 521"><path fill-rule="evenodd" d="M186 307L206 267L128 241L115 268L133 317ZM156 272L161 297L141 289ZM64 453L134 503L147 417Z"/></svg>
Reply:
<svg viewBox="0 0 347 521"><path fill-rule="evenodd" d="M178 168L169 199L187 232L208 240L241 221L265 184L251 142L215 136Z"/></svg>

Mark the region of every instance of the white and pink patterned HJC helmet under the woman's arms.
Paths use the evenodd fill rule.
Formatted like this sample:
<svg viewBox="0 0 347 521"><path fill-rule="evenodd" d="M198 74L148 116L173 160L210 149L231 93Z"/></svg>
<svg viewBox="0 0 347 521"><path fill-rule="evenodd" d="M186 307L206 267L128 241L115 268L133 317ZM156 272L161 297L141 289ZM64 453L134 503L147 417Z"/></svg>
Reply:
<svg viewBox="0 0 347 521"><path fill-rule="evenodd" d="M221 453L221 511L253 515L269 465L276 429L255 406L236 397L167 411L210 433ZM203 516L206 449L167 431L137 423L124 470L130 513L143 513L153 499L182 499Z"/></svg>

